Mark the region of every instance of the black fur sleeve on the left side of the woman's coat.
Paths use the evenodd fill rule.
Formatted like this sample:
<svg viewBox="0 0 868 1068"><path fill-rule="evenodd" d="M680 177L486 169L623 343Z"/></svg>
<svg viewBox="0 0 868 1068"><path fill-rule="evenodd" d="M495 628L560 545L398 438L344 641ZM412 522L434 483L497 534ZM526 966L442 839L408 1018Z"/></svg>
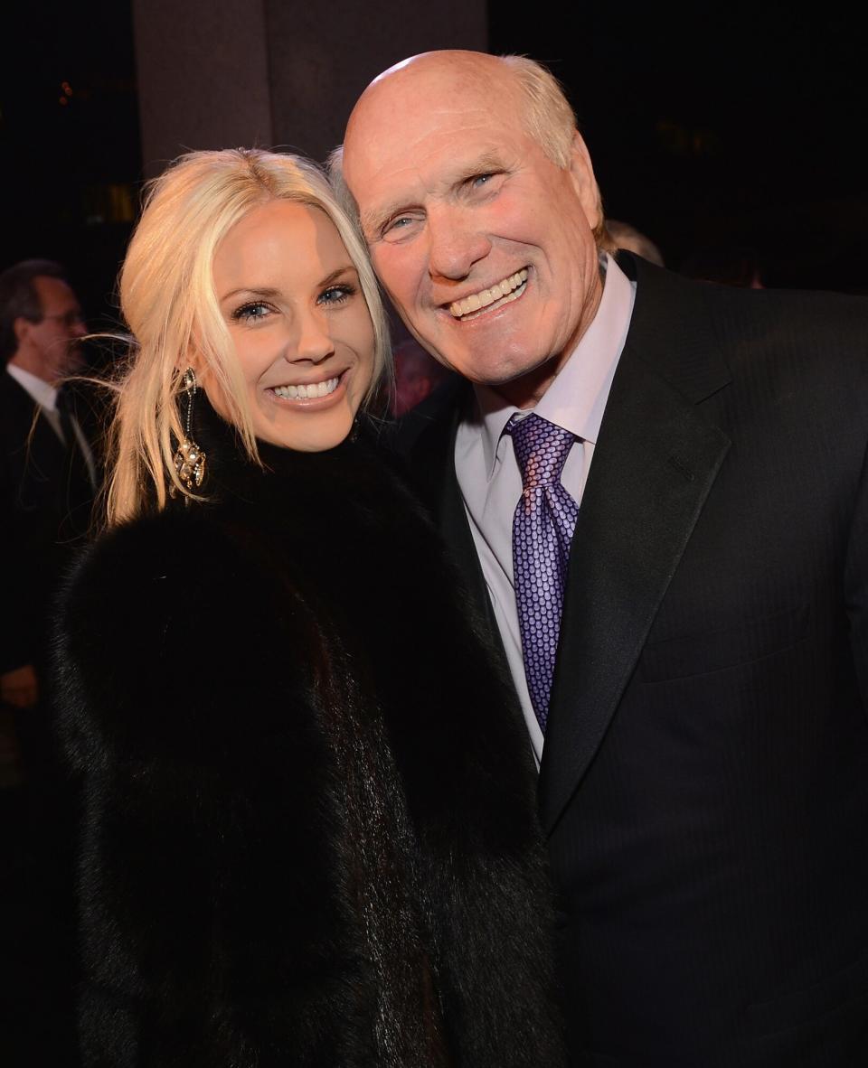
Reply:
<svg viewBox="0 0 868 1068"><path fill-rule="evenodd" d="M65 596L88 1066L292 1065L301 1034L327 1049L317 640L268 578L208 524L162 517L97 545Z"/></svg>

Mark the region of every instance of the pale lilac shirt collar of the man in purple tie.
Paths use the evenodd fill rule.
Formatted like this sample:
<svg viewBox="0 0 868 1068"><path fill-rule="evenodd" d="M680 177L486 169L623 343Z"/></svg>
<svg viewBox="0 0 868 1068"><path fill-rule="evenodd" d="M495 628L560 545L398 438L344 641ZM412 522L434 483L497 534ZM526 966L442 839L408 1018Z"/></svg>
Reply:
<svg viewBox="0 0 868 1068"><path fill-rule="evenodd" d="M626 341L636 296L635 283L630 281L608 253L601 255L601 268L605 278L596 315L533 409L549 423L594 444L603 422L615 370ZM500 437L518 409L507 404L487 386L476 384L474 392L485 472L491 478Z"/></svg>

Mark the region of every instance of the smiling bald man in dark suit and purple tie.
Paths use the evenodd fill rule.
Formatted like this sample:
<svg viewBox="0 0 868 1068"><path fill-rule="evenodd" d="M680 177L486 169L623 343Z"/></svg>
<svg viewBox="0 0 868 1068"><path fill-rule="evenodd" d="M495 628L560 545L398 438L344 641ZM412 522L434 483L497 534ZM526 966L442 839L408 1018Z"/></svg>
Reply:
<svg viewBox="0 0 868 1068"><path fill-rule="evenodd" d="M472 382L405 444L540 759L573 1062L868 1063L865 303L602 254L526 60L387 70L343 177Z"/></svg>

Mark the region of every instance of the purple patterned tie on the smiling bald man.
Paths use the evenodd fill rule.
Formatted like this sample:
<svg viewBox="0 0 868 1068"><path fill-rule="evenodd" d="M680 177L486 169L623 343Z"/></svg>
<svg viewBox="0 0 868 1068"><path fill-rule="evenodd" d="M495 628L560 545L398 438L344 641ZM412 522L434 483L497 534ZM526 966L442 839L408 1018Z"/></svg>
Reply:
<svg viewBox="0 0 868 1068"><path fill-rule="evenodd" d="M525 676L533 711L545 734L567 587L570 543L578 505L560 483L575 438L539 415L513 415L507 424L522 472L522 499L512 520L515 607Z"/></svg>

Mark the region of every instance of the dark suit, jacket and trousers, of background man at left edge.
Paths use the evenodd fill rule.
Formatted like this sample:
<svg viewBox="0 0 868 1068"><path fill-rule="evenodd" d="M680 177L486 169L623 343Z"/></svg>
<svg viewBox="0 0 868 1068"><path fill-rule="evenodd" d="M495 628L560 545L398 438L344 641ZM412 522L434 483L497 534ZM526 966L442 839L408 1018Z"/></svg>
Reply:
<svg viewBox="0 0 868 1068"><path fill-rule="evenodd" d="M36 407L0 367L0 671L33 664L44 697L51 601L88 530L94 491L82 454L66 449L41 409L34 425ZM0 1045L10 1066L74 1068L75 799L56 755L48 702L12 711L26 792L20 802L2 799L11 833L0 878Z"/></svg>

